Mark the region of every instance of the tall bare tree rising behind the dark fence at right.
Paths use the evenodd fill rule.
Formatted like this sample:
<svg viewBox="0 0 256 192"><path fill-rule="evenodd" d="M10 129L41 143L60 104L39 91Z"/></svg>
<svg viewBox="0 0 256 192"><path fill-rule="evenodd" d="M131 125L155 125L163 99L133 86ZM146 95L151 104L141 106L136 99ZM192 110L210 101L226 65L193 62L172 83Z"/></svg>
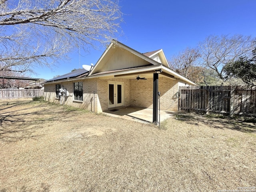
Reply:
<svg viewBox="0 0 256 192"><path fill-rule="evenodd" d="M255 38L251 36L208 36L199 44L202 65L215 70L220 79L224 80L223 66L241 56L249 56L255 44Z"/></svg>

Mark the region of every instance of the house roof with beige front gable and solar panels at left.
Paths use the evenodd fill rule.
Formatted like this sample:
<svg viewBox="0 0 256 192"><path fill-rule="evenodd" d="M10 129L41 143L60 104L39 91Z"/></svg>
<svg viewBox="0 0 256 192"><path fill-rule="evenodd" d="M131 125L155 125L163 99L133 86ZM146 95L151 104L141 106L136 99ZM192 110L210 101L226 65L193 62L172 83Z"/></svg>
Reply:
<svg viewBox="0 0 256 192"><path fill-rule="evenodd" d="M161 71L161 75L167 76L173 79L180 79L183 82L196 85L187 78L171 70L168 66L168 62L162 49L140 53L116 40L113 40L105 52L102 54L98 62L89 72L81 69L83 74L77 74L77 76L70 76L65 74L57 78L48 80L50 81L66 81L67 78L72 80L88 79L88 78L136 78L136 76L148 75ZM77 70L78 71L78 70ZM76 71L74 71L76 72Z"/></svg>

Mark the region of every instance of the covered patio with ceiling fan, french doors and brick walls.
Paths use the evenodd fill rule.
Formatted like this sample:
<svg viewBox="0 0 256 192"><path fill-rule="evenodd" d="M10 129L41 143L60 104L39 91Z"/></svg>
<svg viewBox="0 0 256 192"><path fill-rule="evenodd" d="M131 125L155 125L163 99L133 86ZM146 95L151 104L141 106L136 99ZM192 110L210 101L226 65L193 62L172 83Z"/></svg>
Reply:
<svg viewBox="0 0 256 192"><path fill-rule="evenodd" d="M99 78L100 81L105 81L108 84L108 90L106 90L108 110L105 108L102 110L103 112L114 115L122 114L121 116L125 116L125 118L128 116L130 119L142 119L145 122L159 124L160 121L168 117L166 114L170 114L170 111L174 111L172 109L178 108L178 99L176 98L178 75L174 77L170 69L162 64L100 72L91 77ZM104 84L101 85L104 86ZM160 121L158 120L159 105L163 117L161 118L160 114L162 119ZM128 106L133 107L128 108ZM122 110L118 107L121 107ZM112 111L113 109L115 111Z"/></svg>

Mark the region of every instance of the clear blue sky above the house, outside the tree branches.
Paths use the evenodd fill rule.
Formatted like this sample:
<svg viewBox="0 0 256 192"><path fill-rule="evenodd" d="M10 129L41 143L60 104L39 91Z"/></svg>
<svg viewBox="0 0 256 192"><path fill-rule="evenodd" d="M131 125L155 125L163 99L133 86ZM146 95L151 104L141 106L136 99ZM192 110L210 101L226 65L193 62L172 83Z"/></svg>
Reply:
<svg viewBox="0 0 256 192"><path fill-rule="evenodd" d="M119 5L124 23L118 41L142 53L163 49L167 59L212 34L256 37L256 0L120 0ZM71 60L37 68L33 77L50 79L96 64L104 50L80 50L81 56L74 50Z"/></svg>

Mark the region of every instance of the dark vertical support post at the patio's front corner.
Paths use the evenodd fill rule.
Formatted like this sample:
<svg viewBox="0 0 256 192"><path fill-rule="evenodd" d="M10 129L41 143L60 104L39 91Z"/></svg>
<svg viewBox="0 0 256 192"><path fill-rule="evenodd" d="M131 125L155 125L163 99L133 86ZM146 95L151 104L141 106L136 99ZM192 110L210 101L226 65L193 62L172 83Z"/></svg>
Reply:
<svg viewBox="0 0 256 192"><path fill-rule="evenodd" d="M153 74L153 122L158 124L158 73Z"/></svg>

